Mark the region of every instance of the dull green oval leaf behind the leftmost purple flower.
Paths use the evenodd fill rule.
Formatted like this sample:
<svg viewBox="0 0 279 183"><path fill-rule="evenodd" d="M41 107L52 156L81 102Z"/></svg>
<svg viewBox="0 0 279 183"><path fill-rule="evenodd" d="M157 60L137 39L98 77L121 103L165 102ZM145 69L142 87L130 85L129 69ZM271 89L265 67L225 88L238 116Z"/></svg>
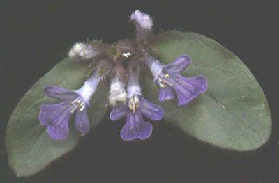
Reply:
<svg viewBox="0 0 279 183"><path fill-rule="evenodd" d="M26 177L43 170L52 161L75 148L80 135L73 125L73 119L70 120L70 134L63 141L53 141L47 135L46 127L40 125L40 106L59 102L46 97L43 89L49 85L68 89L80 88L92 72L90 63L75 63L65 59L37 81L22 97L10 116L5 139L8 163L17 177ZM104 93L107 91L103 83L100 83L90 101L91 127L96 127L107 112L107 95L103 95Z"/></svg>

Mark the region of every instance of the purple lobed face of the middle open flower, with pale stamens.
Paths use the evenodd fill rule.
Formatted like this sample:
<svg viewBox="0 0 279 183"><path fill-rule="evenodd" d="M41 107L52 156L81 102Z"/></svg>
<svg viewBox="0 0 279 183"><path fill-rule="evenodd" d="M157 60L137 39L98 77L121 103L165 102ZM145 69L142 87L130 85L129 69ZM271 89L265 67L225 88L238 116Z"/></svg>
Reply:
<svg viewBox="0 0 279 183"><path fill-rule="evenodd" d="M145 100L142 95L133 95L126 105L112 110L110 119L119 120L127 116L126 124L121 130L121 138L126 141L135 138L144 140L151 135L152 125L145 122L142 115L151 120L160 120L164 116L164 111L162 107Z"/></svg>

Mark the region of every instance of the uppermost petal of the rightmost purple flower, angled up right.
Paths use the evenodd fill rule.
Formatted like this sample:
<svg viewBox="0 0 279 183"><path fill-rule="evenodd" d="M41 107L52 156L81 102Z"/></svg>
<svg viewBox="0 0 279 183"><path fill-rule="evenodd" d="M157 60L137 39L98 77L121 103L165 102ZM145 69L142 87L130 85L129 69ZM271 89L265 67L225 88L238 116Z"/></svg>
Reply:
<svg viewBox="0 0 279 183"><path fill-rule="evenodd" d="M176 58L171 63L164 66L168 73L179 73L190 65L191 58L188 55L182 55Z"/></svg>

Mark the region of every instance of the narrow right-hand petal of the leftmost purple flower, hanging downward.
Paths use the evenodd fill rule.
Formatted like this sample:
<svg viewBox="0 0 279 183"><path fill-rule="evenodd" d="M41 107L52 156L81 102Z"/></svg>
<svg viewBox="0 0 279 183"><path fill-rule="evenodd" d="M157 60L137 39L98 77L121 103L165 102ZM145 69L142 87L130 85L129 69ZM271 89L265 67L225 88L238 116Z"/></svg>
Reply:
<svg viewBox="0 0 279 183"><path fill-rule="evenodd" d="M86 134L90 129L87 109L88 107L85 106L83 111L75 112L75 128L82 134Z"/></svg>

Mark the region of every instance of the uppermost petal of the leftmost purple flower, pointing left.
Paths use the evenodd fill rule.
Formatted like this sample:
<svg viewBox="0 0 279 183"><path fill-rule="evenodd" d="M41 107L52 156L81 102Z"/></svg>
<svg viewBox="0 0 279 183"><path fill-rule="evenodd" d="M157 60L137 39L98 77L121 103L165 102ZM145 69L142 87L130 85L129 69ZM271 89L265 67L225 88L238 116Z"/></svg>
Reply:
<svg viewBox="0 0 279 183"><path fill-rule="evenodd" d="M73 100L78 96L73 90L68 90L59 86L47 86L44 91L45 95L60 100Z"/></svg>

